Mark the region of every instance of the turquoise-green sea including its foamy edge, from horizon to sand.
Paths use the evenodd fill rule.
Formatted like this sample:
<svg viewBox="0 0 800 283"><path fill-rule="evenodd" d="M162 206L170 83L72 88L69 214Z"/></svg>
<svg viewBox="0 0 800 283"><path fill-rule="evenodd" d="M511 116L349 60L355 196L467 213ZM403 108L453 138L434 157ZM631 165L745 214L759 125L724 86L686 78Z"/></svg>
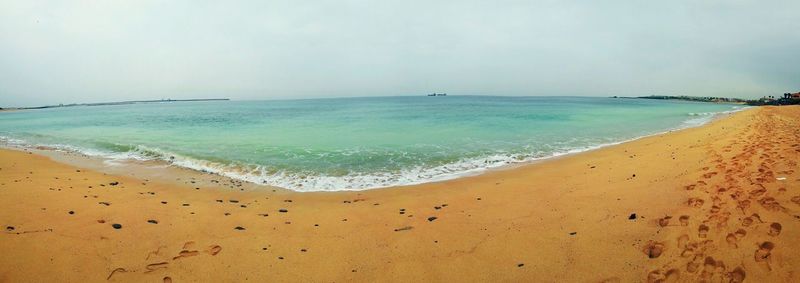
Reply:
<svg viewBox="0 0 800 283"><path fill-rule="evenodd" d="M736 108L585 97L173 102L0 113L0 138L298 191L358 190L591 149Z"/></svg>

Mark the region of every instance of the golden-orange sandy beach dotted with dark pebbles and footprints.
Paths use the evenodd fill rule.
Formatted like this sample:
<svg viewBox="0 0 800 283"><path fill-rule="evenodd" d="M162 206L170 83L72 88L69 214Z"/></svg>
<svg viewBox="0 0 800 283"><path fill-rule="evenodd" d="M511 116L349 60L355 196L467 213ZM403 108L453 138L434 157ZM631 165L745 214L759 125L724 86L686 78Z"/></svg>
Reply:
<svg viewBox="0 0 800 283"><path fill-rule="evenodd" d="M799 160L800 107L363 192L0 150L0 282L798 282Z"/></svg>

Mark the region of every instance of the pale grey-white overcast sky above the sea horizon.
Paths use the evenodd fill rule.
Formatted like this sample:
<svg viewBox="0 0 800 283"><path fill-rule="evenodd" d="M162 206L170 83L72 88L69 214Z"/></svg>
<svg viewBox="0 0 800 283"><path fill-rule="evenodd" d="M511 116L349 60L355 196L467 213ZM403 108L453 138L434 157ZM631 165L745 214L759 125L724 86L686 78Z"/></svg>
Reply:
<svg viewBox="0 0 800 283"><path fill-rule="evenodd" d="M800 1L0 0L0 107L800 91Z"/></svg>

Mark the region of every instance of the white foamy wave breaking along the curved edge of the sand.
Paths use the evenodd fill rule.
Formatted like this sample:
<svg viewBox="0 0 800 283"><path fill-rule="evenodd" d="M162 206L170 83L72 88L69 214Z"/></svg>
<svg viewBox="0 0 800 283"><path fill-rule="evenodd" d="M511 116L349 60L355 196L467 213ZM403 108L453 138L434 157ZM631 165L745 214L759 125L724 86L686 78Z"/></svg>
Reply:
<svg viewBox="0 0 800 283"><path fill-rule="evenodd" d="M748 107L737 107L729 111L688 113L689 118L681 125L663 132L639 136L595 145L562 148L553 152L534 152L526 154L492 154L477 158L466 158L456 162L433 166L415 166L396 172L350 173L343 176L323 175L314 172L276 171L264 165L238 164L194 158L157 147L143 145L124 145L116 143L98 143L97 148L78 147L65 144L35 144L28 141L0 136L0 142L14 147L46 147L59 151L68 151L99 157L109 165L125 161L160 161L169 165L188 168L205 173L213 173L228 178L255 184L276 186L300 192L311 191L358 191L393 186L414 185L428 182L445 181L464 176L477 175L487 170L512 164L530 163L553 157L594 150L616 145L643 137L662 134L674 130L696 127L708 123L721 114L741 111Z"/></svg>

